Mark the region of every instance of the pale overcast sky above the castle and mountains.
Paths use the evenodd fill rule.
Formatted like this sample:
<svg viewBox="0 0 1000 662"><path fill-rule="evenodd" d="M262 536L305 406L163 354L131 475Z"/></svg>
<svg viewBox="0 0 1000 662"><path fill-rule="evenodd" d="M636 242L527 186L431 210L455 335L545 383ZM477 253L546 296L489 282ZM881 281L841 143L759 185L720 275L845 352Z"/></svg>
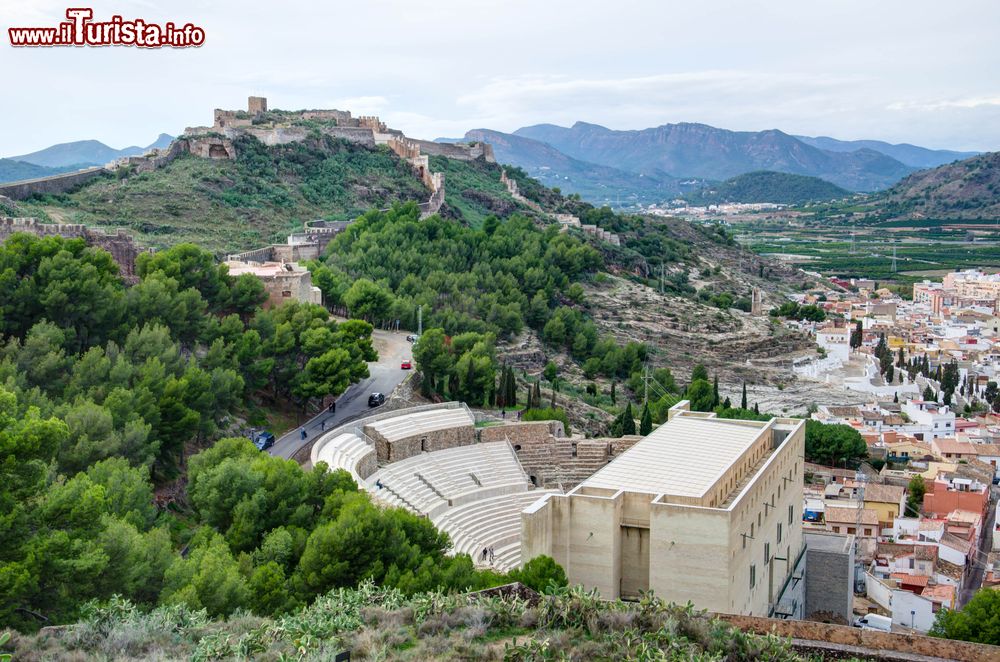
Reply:
<svg viewBox="0 0 1000 662"><path fill-rule="evenodd" d="M183 50L11 48L67 1L0 0L0 155L150 143L213 108L341 108L418 138L703 122L1000 149L997 0L74 2L203 27Z"/></svg>

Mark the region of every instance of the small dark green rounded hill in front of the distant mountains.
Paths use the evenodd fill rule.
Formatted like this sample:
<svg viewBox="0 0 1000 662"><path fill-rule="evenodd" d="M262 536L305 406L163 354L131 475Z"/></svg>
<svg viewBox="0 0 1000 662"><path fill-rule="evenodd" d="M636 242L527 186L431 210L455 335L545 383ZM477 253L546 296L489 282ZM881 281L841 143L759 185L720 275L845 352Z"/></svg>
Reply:
<svg viewBox="0 0 1000 662"><path fill-rule="evenodd" d="M687 195L693 205L724 202L774 202L801 205L806 202L846 198L852 193L836 184L806 175L760 170L737 175Z"/></svg>

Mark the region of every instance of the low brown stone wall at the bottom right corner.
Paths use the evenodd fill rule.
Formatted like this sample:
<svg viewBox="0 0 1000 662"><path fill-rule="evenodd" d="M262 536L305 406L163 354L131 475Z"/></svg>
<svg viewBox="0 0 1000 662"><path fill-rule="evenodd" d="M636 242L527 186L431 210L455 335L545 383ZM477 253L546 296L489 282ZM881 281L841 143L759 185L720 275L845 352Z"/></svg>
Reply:
<svg viewBox="0 0 1000 662"><path fill-rule="evenodd" d="M864 649L867 655L879 659L893 659L891 653L926 655L960 662L1000 662L1000 647L973 644L966 641L938 639L917 634L894 634L876 630L862 630L846 625L830 625L811 621L783 621L759 616L718 614L729 624L757 634L776 634L793 640L825 642ZM899 658L896 658L899 659ZM911 658L912 659L912 658Z"/></svg>

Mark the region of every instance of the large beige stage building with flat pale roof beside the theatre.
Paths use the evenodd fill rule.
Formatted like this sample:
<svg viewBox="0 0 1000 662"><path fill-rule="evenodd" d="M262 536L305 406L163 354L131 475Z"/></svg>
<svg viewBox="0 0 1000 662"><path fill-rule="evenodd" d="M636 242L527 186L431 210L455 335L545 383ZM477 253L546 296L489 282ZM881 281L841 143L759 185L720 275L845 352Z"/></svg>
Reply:
<svg viewBox="0 0 1000 662"><path fill-rule="evenodd" d="M804 553L805 424L675 405L668 422L567 494L522 513L523 561L547 554L605 598L768 615Z"/></svg>

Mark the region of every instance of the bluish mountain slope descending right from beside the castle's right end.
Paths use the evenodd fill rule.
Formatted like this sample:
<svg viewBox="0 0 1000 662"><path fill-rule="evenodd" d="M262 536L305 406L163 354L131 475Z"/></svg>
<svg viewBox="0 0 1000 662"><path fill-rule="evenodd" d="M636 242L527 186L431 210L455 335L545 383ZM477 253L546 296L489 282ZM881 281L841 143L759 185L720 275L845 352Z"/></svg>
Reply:
<svg viewBox="0 0 1000 662"><path fill-rule="evenodd" d="M488 142L498 162L518 166L546 186L558 187L563 193L579 193L584 200L596 204L663 202L703 184L701 181L685 184L662 173L641 175L587 163L543 142L490 129L474 129L461 140Z"/></svg>

